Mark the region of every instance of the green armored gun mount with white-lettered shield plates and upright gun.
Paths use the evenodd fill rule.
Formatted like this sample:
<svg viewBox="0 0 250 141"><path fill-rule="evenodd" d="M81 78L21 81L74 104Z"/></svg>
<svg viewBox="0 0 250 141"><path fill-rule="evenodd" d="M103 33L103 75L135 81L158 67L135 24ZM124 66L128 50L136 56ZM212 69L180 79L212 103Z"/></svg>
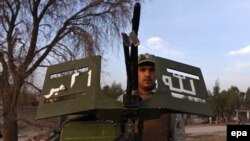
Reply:
<svg viewBox="0 0 250 141"><path fill-rule="evenodd" d="M144 134L143 122L159 118L163 114L212 115L201 70L157 56L155 95L149 100L139 100L138 44L135 43L139 25L138 8L140 5L136 4L133 32L130 36L123 33L128 78L123 103L102 94L101 56L48 68L36 118L62 117L60 131L50 140L141 141Z"/></svg>

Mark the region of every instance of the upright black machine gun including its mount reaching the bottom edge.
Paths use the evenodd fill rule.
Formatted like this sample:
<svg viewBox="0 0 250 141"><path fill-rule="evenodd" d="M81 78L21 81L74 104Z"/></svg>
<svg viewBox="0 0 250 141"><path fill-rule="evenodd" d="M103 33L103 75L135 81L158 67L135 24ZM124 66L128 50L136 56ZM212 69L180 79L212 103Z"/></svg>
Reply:
<svg viewBox="0 0 250 141"><path fill-rule="evenodd" d="M129 36L122 33L125 65L127 72L127 90L123 95L123 117L121 119L121 135L115 141L141 141L143 122L138 118L140 106L138 94L138 45L137 38L140 24L140 3L134 6L132 18L132 32ZM138 133L134 132L135 121L138 121Z"/></svg>

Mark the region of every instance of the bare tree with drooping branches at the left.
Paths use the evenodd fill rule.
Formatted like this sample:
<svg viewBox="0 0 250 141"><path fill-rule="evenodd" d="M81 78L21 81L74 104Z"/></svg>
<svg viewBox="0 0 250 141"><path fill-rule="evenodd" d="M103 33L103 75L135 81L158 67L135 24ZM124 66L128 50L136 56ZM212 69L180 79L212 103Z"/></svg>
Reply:
<svg viewBox="0 0 250 141"><path fill-rule="evenodd" d="M131 0L1 0L4 141L17 140L17 101L41 66L101 54L130 22ZM129 24L128 24L129 25Z"/></svg>

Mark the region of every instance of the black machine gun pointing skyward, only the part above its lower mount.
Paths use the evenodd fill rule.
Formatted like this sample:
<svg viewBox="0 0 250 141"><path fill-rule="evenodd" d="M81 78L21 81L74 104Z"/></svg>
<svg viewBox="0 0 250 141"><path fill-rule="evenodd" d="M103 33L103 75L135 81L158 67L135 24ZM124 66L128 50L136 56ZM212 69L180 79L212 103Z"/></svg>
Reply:
<svg viewBox="0 0 250 141"><path fill-rule="evenodd" d="M122 33L123 49L127 71L127 90L123 97L124 107L139 107L138 96L138 45L137 38L139 23L140 23L141 6L136 3L134 6L134 13L132 18L132 32L128 36Z"/></svg>

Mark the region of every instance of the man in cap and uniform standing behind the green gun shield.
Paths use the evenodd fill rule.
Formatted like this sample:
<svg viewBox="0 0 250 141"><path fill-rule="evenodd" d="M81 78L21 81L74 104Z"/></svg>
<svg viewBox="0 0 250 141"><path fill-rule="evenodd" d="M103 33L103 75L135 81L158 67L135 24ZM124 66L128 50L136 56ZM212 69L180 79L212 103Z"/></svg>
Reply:
<svg viewBox="0 0 250 141"><path fill-rule="evenodd" d="M152 98L156 92L155 57L138 56L138 92L141 100ZM158 119L144 121L143 141L185 141L181 114L163 114Z"/></svg>

